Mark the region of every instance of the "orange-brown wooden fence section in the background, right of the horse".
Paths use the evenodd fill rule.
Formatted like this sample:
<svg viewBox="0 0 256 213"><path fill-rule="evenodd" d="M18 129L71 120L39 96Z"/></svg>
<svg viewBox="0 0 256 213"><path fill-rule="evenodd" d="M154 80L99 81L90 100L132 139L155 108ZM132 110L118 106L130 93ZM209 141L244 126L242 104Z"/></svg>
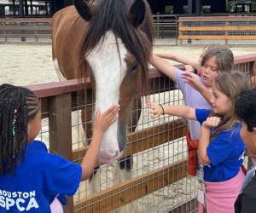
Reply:
<svg viewBox="0 0 256 213"><path fill-rule="evenodd" d="M179 17L178 39L254 40L256 16Z"/></svg>

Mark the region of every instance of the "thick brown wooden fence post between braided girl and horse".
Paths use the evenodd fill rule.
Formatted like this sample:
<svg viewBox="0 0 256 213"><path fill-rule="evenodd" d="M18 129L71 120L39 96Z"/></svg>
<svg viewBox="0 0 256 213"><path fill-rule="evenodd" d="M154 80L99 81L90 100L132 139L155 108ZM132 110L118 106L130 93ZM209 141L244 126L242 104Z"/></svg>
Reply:
<svg viewBox="0 0 256 213"><path fill-rule="evenodd" d="M49 97L49 152L72 161L71 93ZM73 212L73 197L68 197L65 213Z"/></svg>

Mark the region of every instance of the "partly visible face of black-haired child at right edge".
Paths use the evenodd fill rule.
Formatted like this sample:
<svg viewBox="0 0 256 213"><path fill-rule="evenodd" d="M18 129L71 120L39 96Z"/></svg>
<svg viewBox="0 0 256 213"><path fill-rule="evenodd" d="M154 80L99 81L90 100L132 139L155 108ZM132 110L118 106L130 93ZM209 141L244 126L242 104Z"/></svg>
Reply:
<svg viewBox="0 0 256 213"><path fill-rule="evenodd" d="M241 139L244 141L247 147L247 154L251 158L256 158L256 146L255 146L255 135L256 128L253 128L252 132L247 130L247 124L243 121L241 122L241 131L240 131Z"/></svg>

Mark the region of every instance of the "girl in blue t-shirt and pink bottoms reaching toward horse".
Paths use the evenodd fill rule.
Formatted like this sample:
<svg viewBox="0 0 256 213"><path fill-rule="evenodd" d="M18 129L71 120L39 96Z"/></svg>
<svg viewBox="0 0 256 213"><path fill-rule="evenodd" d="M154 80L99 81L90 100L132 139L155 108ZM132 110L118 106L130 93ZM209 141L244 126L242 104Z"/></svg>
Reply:
<svg viewBox="0 0 256 213"><path fill-rule="evenodd" d="M240 72L223 72L212 85L212 110L148 103L152 118L166 113L201 124L198 158L204 168L198 193L200 213L234 212L234 202L244 179L240 168L245 151L234 107L236 95L249 88L247 78Z"/></svg>

